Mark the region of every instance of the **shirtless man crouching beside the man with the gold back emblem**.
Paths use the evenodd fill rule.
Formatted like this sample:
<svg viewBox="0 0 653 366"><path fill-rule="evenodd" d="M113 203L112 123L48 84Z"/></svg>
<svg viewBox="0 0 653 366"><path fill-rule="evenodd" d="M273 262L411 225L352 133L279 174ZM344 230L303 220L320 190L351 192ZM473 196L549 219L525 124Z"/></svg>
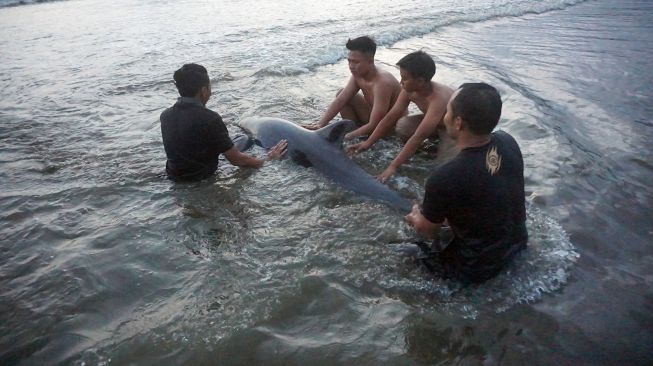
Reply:
<svg viewBox="0 0 653 366"><path fill-rule="evenodd" d="M442 139L447 138L443 133L442 121L453 90L446 85L431 81L435 75L435 62L431 56L422 51L413 52L399 60L397 65L402 88L397 102L367 140L354 144L348 149L352 154L365 151L396 127L397 135L406 142L406 145L378 176L381 182L385 182L397 171L397 168L410 159L424 140L440 137L442 143ZM404 116L404 111L410 102L415 103L424 114Z"/></svg>

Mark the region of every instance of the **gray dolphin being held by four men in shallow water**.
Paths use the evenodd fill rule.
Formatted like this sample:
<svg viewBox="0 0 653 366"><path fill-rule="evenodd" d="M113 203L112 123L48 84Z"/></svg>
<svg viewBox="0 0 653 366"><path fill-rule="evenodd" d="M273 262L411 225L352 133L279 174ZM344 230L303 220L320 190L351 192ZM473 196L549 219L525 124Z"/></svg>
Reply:
<svg viewBox="0 0 653 366"><path fill-rule="evenodd" d="M352 121L338 121L317 131L272 117L246 118L239 125L255 138L257 145L266 149L286 139L286 156L302 166L313 167L350 191L404 212L411 209L407 199L377 181L342 150L345 134L355 127Z"/></svg>

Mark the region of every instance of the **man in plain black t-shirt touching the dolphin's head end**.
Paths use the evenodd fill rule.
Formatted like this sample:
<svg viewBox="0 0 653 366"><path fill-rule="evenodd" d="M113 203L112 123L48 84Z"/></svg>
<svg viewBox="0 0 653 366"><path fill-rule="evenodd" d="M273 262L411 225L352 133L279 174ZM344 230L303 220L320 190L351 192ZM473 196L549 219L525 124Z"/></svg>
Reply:
<svg viewBox="0 0 653 366"><path fill-rule="evenodd" d="M258 168L264 160L243 154L234 146L220 115L208 108L211 82L206 68L186 64L174 74L181 97L161 113L161 135L168 161L166 173L173 180L200 180L218 168L224 154L236 166ZM287 142L270 149L266 160L279 158Z"/></svg>

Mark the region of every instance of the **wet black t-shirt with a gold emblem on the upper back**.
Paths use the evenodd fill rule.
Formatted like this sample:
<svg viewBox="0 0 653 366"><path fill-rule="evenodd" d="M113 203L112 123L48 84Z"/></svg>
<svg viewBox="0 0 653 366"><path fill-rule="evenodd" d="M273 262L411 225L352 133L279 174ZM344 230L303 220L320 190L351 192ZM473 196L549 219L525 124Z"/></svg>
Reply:
<svg viewBox="0 0 653 366"><path fill-rule="evenodd" d="M503 131L463 149L427 179L423 215L447 219L453 240L439 253L445 277L480 282L498 274L526 246L524 161L517 142Z"/></svg>

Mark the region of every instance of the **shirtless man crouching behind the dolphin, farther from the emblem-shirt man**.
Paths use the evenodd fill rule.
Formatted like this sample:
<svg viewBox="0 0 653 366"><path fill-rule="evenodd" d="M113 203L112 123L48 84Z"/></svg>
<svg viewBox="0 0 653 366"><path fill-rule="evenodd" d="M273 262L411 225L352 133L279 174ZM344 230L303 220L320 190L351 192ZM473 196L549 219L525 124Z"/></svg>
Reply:
<svg viewBox="0 0 653 366"><path fill-rule="evenodd" d="M350 39L346 47L349 50L347 60L351 77L347 85L338 91L322 118L307 128L322 128L340 112L343 119L362 125L345 136L346 139L352 139L374 131L397 100L401 87L391 73L379 70L374 65L376 43L371 38L363 36ZM358 93L359 90L363 95ZM405 108L402 113L405 113Z"/></svg>

